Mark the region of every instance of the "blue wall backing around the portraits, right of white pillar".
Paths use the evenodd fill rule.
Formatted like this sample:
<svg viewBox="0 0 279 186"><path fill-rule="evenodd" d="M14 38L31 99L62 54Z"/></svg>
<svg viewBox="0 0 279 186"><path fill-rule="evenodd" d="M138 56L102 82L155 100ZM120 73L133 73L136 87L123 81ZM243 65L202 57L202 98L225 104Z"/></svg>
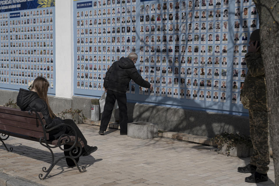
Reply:
<svg viewBox="0 0 279 186"><path fill-rule="evenodd" d="M240 77L242 70L247 74L246 65L241 65L242 59L245 56L245 51L242 52L243 46L247 47L247 40L242 40L242 36L245 33L249 39L250 33L255 29L251 27L252 20L255 20L256 28L259 27L257 15L251 15L253 7L255 5L252 1L249 3L237 3L235 1L230 1L228 4L223 0L220 2L218 0L212 1L213 6L209 6L210 2L205 1L205 6L202 4L202 1L198 1L198 6L195 6L193 3L192 8L189 7L190 1L108 1L101 0L99 1L74 1L74 94L80 96L93 96L98 97L104 91L103 88L103 76L107 71L108 65L112 65L112 58L117 60L118 57L128 56L128 47L130 51L135 47L136 53L139 55L139 58L136 63L138 70L143 69L142 77L147 78L148 81L151 81L153 77L154 80L154 93L144 92L145 89L140 91L140 87L134 84L133 81L130 83L129 90L127 90L127 99L131 102L139 103L148 103L148 104L157 104L157 105L167 105L170 107L178 108L189 108L194 110L206 110L213 112L221 113L230 113L238 115L247 115L248 110L244 109L240 101L240 87L242 82L244 82L245 77ZM191 1L192 2L192 1ZM195 1L196 2L196 1ZM100 3L100 6L99 6ZM164 3L166 3L166 10L163 10ZM179 5L179 8L176 5ZM110 5L109 5L110 4ZM158 4L160 4L161 9L158 10ZM171 5L170 5L171 4ZM96 5L96 6L94 6ZM146 6L149 6L146 8ZM154 5L155 10L152 9ZM171 6L173 8L171 8ZM133 13L133 7L135 7L135 13ZM117 14L119 8L119 14ZM125 13L122 13L124 8ZM130 8L130 13L127 12ZM244 15L244 8L248 9L247 16ZM113 9L115 9L115 14L113 15ZM148 10L149 9L149 10ZM237 15L237 9L239 9L239 16ZM96 16L94 16L94 11L96 10ZM98 15L99 10L101 12ZM103 14L105 10L105 14ZM220 17L216 16L217 11L219 10ZM88 17L85 16L87 11ZM90 16L90 11L92 11L92 16ZM110 11L110 15L108 15ZM205 17L202 19L202 12L205 12ZM210 18L210 11L212 11L212 18ZM228 17L224 16L228 11ZM196 12L198 12L198 18L195 18ZM185 14L185 19L182 19ZM82 16L83 14L83 16ZM166 21L163 21L164 14L166 14ZM170 14L173 15L173 20L170 20ZM192 18L189 15L192 14ZM135 16L136 22L132 23L132 19ZM142 17L141 17L142 16ZM154 16L154 21L152 21L152 16ZM130 23L127 23L128 17ZM122 23L124 18L125 23ZM108 24L108 19L110 19L110 24ZM112 19L115 19L115 24L112 24ZM143 21L141 22L141 19ZM148 22L149 19L149 22ZM96 20L96 24L94 21ZM99 23L99 20L101 24ZM119 20L119 22L117 22ZM92 25L90 25L92 21ZM242 28L244 26L244 21L248 28ZM83 26L81 25L83 22ZM87 25L86 25L87 22ZM224 28L224 22L227 24L227 29ZM239 23L239 28L237 28L237 22ZM205 30L202 30L202 24L205 23ZM210 24L212 23L212 29L209 29ZM217 29L218 23L220 24L220 29ZM78 26L79 24L79 26ZM192 25L192 29L188 31L189 24ZM198 24L198 30L195 30L195 26ZM166 32L163 31L164 25L166 25ZM171 26L173 31L169 31ZM183 31L185 25L185 31ZM149 32L146 31L146 26L149 27ZM154 26L155 31L151 31L151 28ZM160 31L157 31L158 26L160 26ZM178 27L176 27L178 26ZM130 32L127 32L127 27L130 27ZM135 33L132 33L133 27L135 27ZM143 32L141 32L141 27L143 27ZM120 32L117 33L119 28ZM122 28L125 28L122 33ZM176 31L176 28L177 31ZM94 34L94 29L96 29L96 34ZM98 34L98 31L101 31L101 34ZM110 29L110 33L108 33ZM112 30L115 29L115 33L112 33ZM83 30L84 34L81 34ZM87 33L86 34L86 30ZM92 34L90 34L92 30ZM79 31L79 35L78 32ZM105 34L103 34L103 32ZM201 40L202 35L205 36L205 41ZM223 40L223 35L226 34L227 41ZM235 40L235 35L238 34L239 40ZM192 42L188 42L187 39L191 35ZM198 40L195 41L194 38L198 35ZM209 40L209 35L212 35L212 41ZM215 41L216 36L219 35L220 41ZM149 37L149 42L146 41L146 36ZM157 37L160 36L160 42L157 42ZM113 37L115 38L115 43L112 43ZM117 43L117 37L119 37L120 42ZM124 42L122 43L122 37L124 37ZM128 38L129 37L129 38ZM135 37L135 42L132 42L132 37ZM141 37L143 37L144 42L141 42ZM151 42L152 37L154 37L154 42ZM166 42L163 42L163 37L166 37ZM172 37L173 41L169 41ZM179 41L175 41L176 38L179 38ZM185 37L185 42L182 41L182 38ZM96 38L96 44L94 44L94 38ZM105 38L105 43L103 42ZM109 38L109 39L108 39ZM86 44L86 39L88 43ZM92 39L92 43L90 43ZM98 43L99 39L101 43ZM127 42L127 39L130 39L130 42ZM79 40L79 44L78 44ZM81 43L81 40L84 40L84 43ZM108 43L110 40L110 43ZM183 53L182 47L185 47L185 52ZM188 48L191 47L191 52L188 53ZM201 53L202 46L205 48L205 53ZM212 53L208 53L209 47L212 46ZM219 46L219 52L215 53L216 46ZM224 46L226 46L227 52L223 52ZM238 46L238 53L234 53L235 46ZM79 47L79 52L78 52ZM83 51L82 52L82 47ZM88 52L86 52L86 47ZM90 47L92 52L90 52ZM94 47L96 47L96 52L94 53ZM100 47L101 52L98 52ZM105 51L103 52L103 47ZM108 47L110 47L110 52L108 52ZM112 52L112 48L115 47L115 52ZM117 47L119 47L120 52L117 53ZM122 47L124 47L125 52L121 52ZM146 47L148 47L149 52L145 52ZM154 53L151 52L152 47L154 47ZM157 47L160 47L160 51L156 51ZM166 48L166 52L163 53L163 47ZM169 52L172 48L173 52ZM195 48L198 47L197 52ZM143 52L140 51L140 48L143 48ZM175 49L178 49L178 52ZM85 60L86 56L88 61ZM94 61L94 56L96 56L96 61ZM98 59L101 61L98 61ZM140 62L140 59L143 59L143 62ZM151 62L153 57L154 63ZM157 61L159 57L160 62ZM165 57L166 63L163 63L163 58ZM172 62L168 60L172 57ZM177 63L175 62L177 57ZM181 60L184 57L185 63L182 63ZM202 58L204 57L205 65L201 64ZM214 64L216 58L218 57L219 65ZM84 58L84 60L82 60ZM92 58L92 60L90 60ZM145 60L148 58L148 61ZM197 58L197 64L195 64L195 58ZM211 58L212 65L208 64L209 58ZM226 65L222 65L223 58L226 60ZM79 59L79 60L78 60ZM103 59L105 59L103 61ZM108 61L110 59L110 61ZM188 59L191 60L190 63L187 63ZM190 61L189 60L189 61ZM238 65L233 65L233 62L237 62ZM78 65L79 68L78 69ZM86 65L88 70L86 69ZM90 66L94 68L96 65L97 70L90 70ZM100 65L100 70L98 70ZM103 65L105 68L103 70ZM83 66L83 69L82 69ZM157 67L160 68L156 72ZM151 69L154 68L154 73ZM163 68L166 69L166 74L162 73ZM168 73L169 68L171 72ZM178 74L176 74L176 68L178 69ZM184 68L185 74L181 74L182 68ZM197 68L197 74L194 75L194 70ZM146 72L145 72L145 69ZM191 70L191 74L187 74L188 69ZM201 69L204 70L205 76L201 75ZM207 76L209 69L211 70L212 76ZM214 72L218 70L219 76L214 76ZM234 76L234 72L238 71L238 76ZM79 78L78 78L79 73ZM84 78L82 78L82 73ZM86 79L86 74L88 78ZM93 78L90 79L89 76L92 74ZM96 79L94 79L94 74L96 74ZM98 77L101 79L98 79ZM160 83L156 84L156 79L159 78ZM163 78L166 81L166 84L162 84ZM168 84L169 78L171 78L171 84ZM177 78L177 79L176 79ZM183 80L181 80L183 79ZM191 85L187 86L188 79L190 80ZM177 80L178 83L175 81ZM198 86L193 86L194 80L197 80ZM205 86L200 86L200 82L204 81ZM181 81L184 81L186 85L183 85ZM211 82L212 86L207 87L208 81ZM214 88L214 82L217 81L218 88ZM221 88L223 81L225 81L226 88ZM90 82L92 83L92 88L90 88ZM233 83L236 82L237 88L233 89ZM79 86L78 86L79 83ZM94 84L96 83L96 88ZM86 87L87 84L87 87ZM100 85L101 88L98 88ZM160 94L156 94L156 89L159 88ZM165 89L165 96L162 95L162 88ZM167 92L171 90L171 95L168 97ZM132 91L135 90L135 91ZM174 92L177 90L178 96L174 95ZM184 96L180 96L181 90L183 90ZM187 90L189 90L191 96L186 96ZM193 97L194 91L196 91L197 99ZM204 99L200 99L201 91L203 91ZM206 98L207 93L210 92L210 99ZM217 92L218 99L213 99L214 93ZM225 94L226 100L221 100L222 93ZM233 101L234 94L236 94L236 101Z"/></svg>

